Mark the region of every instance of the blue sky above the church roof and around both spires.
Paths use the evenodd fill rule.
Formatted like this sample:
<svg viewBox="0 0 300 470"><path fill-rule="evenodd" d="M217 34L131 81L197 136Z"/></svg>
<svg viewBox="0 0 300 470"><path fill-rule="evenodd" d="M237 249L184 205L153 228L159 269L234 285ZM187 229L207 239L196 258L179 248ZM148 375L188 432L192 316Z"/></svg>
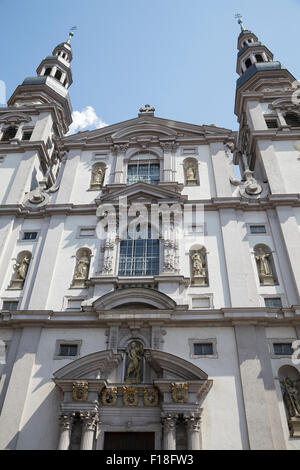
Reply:
<svg viewBox="0 0 300 470"><path fill-rule="evenodd" d="M300 0L0 0L0 80L10 96L77 25L73 110L113 124L149 103L163 118L237 129L236 12L300 79Z"/></svg>

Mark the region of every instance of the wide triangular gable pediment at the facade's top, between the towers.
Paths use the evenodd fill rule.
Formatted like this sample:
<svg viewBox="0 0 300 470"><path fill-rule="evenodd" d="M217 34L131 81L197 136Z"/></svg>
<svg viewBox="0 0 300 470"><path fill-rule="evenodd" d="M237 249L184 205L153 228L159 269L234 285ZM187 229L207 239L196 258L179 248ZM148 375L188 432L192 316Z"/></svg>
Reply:
<svg viewBox="0 0 300 470"><path fill-rule="evenodd" d="M78 132L63 138L65 143L119 143L122 141L155 143L185 137L228 136L232 131L215 125L195 125L155 116L139 116L93 131Z"/></svg>

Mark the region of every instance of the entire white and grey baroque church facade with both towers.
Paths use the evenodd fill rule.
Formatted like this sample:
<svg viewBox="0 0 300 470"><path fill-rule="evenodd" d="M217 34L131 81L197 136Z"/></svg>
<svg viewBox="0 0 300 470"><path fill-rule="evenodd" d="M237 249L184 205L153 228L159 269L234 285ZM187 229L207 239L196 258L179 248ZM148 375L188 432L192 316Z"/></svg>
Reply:
<svg viewBox="0 0 300 470"><path fill-rule="evenodd" d="M295 78L241 24L238 133L68 135L71 36L0 108L0 448L300 449Z"/></svg>

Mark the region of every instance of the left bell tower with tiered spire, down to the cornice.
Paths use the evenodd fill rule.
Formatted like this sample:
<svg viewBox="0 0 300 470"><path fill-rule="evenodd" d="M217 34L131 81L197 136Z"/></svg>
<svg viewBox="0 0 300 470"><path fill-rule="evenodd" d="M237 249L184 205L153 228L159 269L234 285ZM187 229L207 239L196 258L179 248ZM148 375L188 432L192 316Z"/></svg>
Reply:
<svg viewBox="0 0 300 470"><path fill-rule="evenodd" d="M25 78L8 106L0 109L0 153L2 160L15 167L10 180L4 176L1 180L3 188L7 186L4 203L22 203L41 182L47 188L56 180L61 157L55 140L63 137L72 123L68 89L72 84L73 34L70 32L68 39L42 60L37 76Z"/></svg>

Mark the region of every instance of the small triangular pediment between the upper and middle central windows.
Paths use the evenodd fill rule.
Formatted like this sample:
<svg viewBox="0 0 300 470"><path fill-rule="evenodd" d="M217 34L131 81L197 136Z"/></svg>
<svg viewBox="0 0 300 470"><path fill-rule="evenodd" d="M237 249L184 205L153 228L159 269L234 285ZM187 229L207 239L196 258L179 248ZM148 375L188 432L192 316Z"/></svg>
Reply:
<svg viewBox="0 0 300 470"><path fill-rule="evenodd" d="M127 198L128 202L148 202L163 203L164 201L184 202L186 196L180 193L166 189L160 186L154 186L143 182L135 183L118 190L110 190L108 194L104 194L96 199L98 204L101 203L118 203L120 199Z"/></svg>

